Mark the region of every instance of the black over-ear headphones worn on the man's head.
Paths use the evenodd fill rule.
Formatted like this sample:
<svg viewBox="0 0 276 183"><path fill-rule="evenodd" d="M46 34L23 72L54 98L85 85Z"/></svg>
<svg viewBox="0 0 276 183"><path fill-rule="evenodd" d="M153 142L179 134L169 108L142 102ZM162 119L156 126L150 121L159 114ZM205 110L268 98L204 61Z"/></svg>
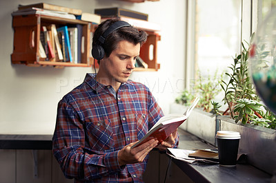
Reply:
<svg viewBox="0 0 276 183"><path fill-rule="evenodd" d="M119 29L119 28L123 28L123 27L129 27L130 24L127 23L126 21L117 21L115 23L113 23L112 25L110 25L109 28L106 29L105 32L103 32L103 34L101 34L101 36L99 37L99 42L101 43L101 45L103 45L104 41L106 41L106 37L113 31ZM93 58L97 59L98 61L103 59L104 56L104 50L103 47L101 45L93 45L92 47L92 56Z"/></svg>

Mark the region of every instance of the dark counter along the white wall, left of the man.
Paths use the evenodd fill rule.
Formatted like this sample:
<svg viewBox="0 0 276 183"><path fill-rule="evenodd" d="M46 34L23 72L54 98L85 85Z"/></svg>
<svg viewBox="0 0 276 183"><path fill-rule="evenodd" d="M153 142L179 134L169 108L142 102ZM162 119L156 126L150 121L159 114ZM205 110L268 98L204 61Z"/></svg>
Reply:
<svg viewBox="0 0 276 183"><path fill-rule="evenodd" d="M0 149L52 149L52 135L0 135Z"/></svg>

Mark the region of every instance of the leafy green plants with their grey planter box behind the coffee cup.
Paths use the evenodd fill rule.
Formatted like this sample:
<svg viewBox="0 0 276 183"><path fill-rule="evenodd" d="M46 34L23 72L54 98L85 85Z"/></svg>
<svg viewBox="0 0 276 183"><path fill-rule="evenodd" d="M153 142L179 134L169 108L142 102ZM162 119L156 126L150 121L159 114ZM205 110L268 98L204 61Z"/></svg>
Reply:
<svg viewBox="0 0 276 183"><path fill-rule="evenodd" d="M273 174L276 169L276 116L257 96L248 71L250 45L254 36L253 33L247 46L242 43L242 54L233 59L234 63L229 67L231 72L226 73L228 81L221 80L223 100L228 105L224 115L228 114L228 117L217 116L217 120L220 130L241 133L239 153L246 154L250 164ZM260 54L265 58L267 53Z"/></svg>

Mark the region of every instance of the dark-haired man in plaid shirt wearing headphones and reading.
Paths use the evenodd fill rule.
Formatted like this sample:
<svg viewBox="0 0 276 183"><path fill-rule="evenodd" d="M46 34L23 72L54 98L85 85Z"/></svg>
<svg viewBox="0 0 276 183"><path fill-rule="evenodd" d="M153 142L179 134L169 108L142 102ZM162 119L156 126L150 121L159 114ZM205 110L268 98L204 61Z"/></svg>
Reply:
<svg viewBox="0 0 276 183"><path fill-rule="evenodd" d="M108 19L93 36L97 74L66 94L58 105L53 153L76 182L142 182L148 153L177 147L177 131L157 146L149 140L130 149L163 116L149 89L128 80L146 32Z"/></svg>

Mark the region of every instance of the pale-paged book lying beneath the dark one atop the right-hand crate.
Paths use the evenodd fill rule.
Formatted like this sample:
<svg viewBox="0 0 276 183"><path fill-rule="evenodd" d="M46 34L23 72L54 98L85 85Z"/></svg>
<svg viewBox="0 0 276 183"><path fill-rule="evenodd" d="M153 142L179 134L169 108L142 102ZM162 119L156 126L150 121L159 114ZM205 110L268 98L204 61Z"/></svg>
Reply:
<svg viewBox="0 0 276 183"><path fill-rule="evenodd" d="M101 21L106 21L107 19L110 19L110 18L112 17L101 18ZM150 21L144 21L139 19L133 19L133 18L124 17L124 16L121 16L120 18L121 18L121 21L126 21L130 25L138 29L147 30L151 32L156 32L161 30L161 26L158 25L157 23L152 23Z"/></svg>

